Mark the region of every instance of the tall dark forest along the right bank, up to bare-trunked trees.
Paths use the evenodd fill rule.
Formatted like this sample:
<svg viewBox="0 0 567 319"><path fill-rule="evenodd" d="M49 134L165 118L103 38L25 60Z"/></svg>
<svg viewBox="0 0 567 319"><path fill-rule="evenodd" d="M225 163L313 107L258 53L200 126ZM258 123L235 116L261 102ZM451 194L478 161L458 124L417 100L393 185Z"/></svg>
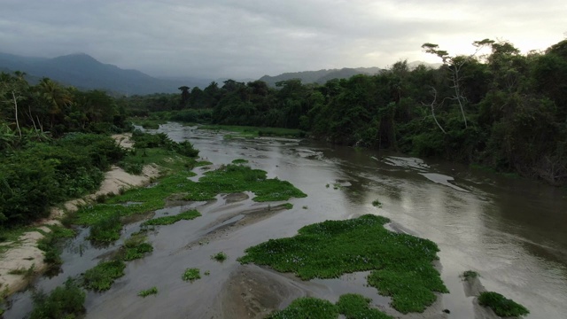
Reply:
<svg viewBox="0 0 567 319"><path fill-rule="evenodd" d="M439 156L565 183L567 40L527 55L512 43L473 44L490 53L451 56L425 43L423 49L443 60L439 69L400 61L381 74L324 85L291 79L272 89L266 82L229 80L124 103L140 115L203 109L199 114L209 113L218 124L301 128L332 143Z"/></svg>

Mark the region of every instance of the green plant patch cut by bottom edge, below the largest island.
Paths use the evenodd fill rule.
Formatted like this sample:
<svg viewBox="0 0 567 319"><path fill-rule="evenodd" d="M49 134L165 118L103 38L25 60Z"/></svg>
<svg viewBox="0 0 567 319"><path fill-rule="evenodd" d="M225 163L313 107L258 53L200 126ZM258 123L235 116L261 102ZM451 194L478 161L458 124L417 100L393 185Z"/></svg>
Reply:
<svg viewBox="0 0 567 319"><path fill-rule="evenodd" d="M268 315L268 318L337 319L338 315L345 315L346 319L393 319L392 316L369 307L369 303L369 299L353 293L340 296L336 304L328 300L304 297L291 301L290 306Z"/></svg>

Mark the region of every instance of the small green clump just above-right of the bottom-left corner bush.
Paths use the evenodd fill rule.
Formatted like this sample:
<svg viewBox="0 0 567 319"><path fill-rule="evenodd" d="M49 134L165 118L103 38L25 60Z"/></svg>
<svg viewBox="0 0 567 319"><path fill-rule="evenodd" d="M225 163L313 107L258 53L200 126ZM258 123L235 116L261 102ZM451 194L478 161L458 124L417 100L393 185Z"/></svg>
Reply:
<svg viewBox="0 0 567 319"><path fill-rule="evenodd" d="M82 285L96 292L107 291L117 278L124 276L124 268L124 261L102 261L82 275Z"/></svg>

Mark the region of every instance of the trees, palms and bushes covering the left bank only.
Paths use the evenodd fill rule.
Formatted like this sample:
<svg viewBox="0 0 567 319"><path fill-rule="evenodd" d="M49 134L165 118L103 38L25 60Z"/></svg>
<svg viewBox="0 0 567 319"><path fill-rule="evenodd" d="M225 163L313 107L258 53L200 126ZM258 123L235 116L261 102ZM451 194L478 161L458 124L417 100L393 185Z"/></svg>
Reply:
<svg viewBox="0 0 567 319"><path fill-rule="evenodd" d="M126 152L105 135L128 130L124 108L22 73L0 74L0 230L49 215L50 206L96 191Z"/></svg>

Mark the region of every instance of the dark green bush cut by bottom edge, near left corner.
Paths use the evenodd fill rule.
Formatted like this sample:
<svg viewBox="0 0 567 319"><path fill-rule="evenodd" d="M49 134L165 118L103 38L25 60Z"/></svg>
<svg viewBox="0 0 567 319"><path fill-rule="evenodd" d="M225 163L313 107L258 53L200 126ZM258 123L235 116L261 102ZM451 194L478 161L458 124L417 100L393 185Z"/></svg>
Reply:
<svg viewBox="0 0 567 319"><path fill-rule="evenodd" d="M30 319L78 318L85 312L85 292L71 278L55 288L50 294L42 291L33 295L34 310Z"/></svg>

